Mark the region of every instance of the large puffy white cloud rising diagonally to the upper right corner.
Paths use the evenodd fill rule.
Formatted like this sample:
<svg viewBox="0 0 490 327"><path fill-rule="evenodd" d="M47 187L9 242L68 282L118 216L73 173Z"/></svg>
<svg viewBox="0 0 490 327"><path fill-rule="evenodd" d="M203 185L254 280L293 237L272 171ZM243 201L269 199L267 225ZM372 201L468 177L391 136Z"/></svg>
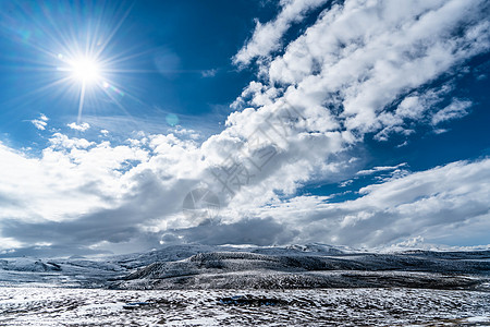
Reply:
<svg viewBox="0 0 490 327"><path fill-rule="evenodd" d="M454 106L437 113L453 85L431 83L490 49L488 11L486 1L461 0L345 1L324 10L282 55L258 63L259 81L233 105L242 110L203 145L235 162L250 161L257 134L264 152L277 149L272 168L255 171L232 204L247 192L244 203L254 192L273 198L270 190L291 194L311 178L342 173L352 166L342 154L368 133L377 141L408 137L433 116L461 116L466 109Z"/></svg>

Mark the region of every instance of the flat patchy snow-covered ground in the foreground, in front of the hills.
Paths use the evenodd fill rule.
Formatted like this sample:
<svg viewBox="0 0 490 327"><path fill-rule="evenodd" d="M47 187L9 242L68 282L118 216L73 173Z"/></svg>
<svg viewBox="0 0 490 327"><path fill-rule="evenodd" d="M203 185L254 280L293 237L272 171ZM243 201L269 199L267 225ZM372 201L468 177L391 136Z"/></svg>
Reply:
<svg viewBox="0 0 490 327"><path fill-rule="evenodd" d="M237 295L281 302L219 301ZM490 293L468 291L0 288L1 326L481 326L489 314Z"/></svg>

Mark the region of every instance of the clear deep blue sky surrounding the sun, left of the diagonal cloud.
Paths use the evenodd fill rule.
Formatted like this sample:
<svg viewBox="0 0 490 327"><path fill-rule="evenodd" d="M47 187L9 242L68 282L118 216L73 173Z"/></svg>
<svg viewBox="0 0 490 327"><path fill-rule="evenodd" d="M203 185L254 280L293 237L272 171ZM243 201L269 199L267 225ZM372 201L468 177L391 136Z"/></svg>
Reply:
<svg viewBox="0 0 490 327"><path fill-rule="evenodd" d="M65 85L40 88L63 77L54 76L59 61L51 56L63 53L65 47L71 50L73 45L61 39L71 39L83 47L87 37L99 37L94 35L96 23L102 25L102 37L122 23L103 55L119 59L113 69L120 72L113 76L127 93L121 99L127 112L106 101L105 105L87 104L85 116L161 120L162 112L182 117L208 114L212 116L209 124L218 130L218 123L229 113L226 105L253 77L247 71L238 73L230 58L253 28L250 17L262 11L258 2L255 5L245 1L75 3L2 3L2 11L9 16L1 38L5 49L2 85L7 87L1 94L7 107L2 111L5 114L2 132L9 133L9 138L17 145L36 141L35 133L26 131L24 124L39 111L59 124L77 114L76 110L69 110L77 107L76 89L65 94ZM47 12L53 22L48 22Z"/></svg>

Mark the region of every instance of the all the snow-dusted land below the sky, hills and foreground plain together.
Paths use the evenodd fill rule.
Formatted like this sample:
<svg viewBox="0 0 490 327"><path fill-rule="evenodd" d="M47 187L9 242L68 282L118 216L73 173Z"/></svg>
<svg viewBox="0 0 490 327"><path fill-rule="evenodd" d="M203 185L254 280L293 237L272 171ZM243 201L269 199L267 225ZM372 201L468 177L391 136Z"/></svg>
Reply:
<svg viewBox="0 0 490 327"><path fill-rule="evenodd" d="M0 258L0 326L490 326L490 251L175 245Z"/></svg>

